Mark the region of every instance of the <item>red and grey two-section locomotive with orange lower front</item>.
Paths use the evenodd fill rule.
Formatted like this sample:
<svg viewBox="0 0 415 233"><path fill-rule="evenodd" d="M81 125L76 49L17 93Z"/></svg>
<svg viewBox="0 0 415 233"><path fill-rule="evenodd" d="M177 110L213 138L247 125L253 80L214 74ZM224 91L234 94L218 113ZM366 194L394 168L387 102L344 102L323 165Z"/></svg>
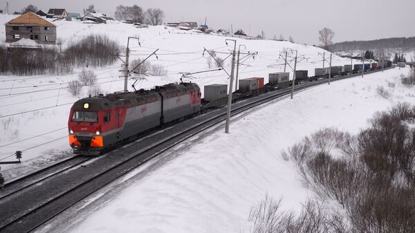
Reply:
<svg viewBox="0 0 415 233"><path fill-rule="evenodd" d="M131 136L200 111L201 91L192 82L86 97L71 108L69 144L74 153L98 155Z"/></svg>

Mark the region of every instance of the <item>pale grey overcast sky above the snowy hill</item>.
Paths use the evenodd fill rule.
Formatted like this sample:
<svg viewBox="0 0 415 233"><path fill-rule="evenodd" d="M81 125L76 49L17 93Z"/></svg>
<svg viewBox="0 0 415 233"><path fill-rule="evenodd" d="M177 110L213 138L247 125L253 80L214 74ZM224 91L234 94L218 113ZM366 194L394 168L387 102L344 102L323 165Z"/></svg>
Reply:
<svg viewBox="0 0 415 233"><path fill-rule="evenodd" d="M196 21L210 28L243 29L248 35L266 37L291 35L301 44L320 44L318 30L335 32L334 42L412 37L415 35L415 0L0 0L0 9L9 1L9 11L20 11L28 4L40 10L65 8L79 12L94 4L95 10L113 15L116 6L137 4L143 10L160 8L165 22Z"/></svg>

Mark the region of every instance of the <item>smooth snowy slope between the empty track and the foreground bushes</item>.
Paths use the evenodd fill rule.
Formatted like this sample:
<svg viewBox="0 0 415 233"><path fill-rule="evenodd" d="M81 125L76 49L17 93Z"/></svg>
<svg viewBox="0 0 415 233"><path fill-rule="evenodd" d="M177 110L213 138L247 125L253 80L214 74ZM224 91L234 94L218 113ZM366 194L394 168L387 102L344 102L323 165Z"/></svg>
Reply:
<svg viewBox="0 0 415 233"><path fill-rule="evenodd" d="M298 212L314 194L280 152L323 127L354 134L376 111L415 104L414 88L400 84L408 72L332 82L237 115L230 134L221 125L179 145L39 232L250 232L250 207L266 194Z"/></svg>

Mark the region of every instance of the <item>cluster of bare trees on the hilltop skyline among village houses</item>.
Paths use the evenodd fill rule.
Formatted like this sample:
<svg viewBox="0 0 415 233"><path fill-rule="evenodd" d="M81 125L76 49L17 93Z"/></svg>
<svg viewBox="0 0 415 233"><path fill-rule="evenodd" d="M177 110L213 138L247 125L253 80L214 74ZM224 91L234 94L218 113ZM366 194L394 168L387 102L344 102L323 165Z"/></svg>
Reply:
<svg viewBox="0 0 415 233"><path fill-rule="evenodd" d="M122 6L116 8L115 18L117 20L133 21L134 23L158 25L161 24L165 14L159 8L148 8L143 12L142 8L137 5Z"/></svg>

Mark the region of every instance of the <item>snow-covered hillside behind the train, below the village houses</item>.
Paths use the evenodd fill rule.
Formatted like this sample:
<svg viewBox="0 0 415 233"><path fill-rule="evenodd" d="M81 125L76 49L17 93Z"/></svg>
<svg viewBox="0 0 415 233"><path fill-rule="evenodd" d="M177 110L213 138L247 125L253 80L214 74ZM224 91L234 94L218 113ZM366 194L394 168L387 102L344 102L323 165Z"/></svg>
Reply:
<svg viewBox="0 0 415 233"><path fill-rule="evenodd" d="M1 25L13 19L14 15L0 15ZM82 21L53 21L57 26L57 38L63 41L62 51L71 42L91 34L105 34L118 41L124 51L127 37L139 37L140 44L135 39L130 40L131 57L145 59L154 50L158 50L158 58L152 56L149 62L167 70L163 77L147 76L146 80L136 84L138 88L151 88L170 82L180 82L183 73L206 71L213 68L214 62L203 50L214 50L217 57L225 59L223 65L230 73L230 50L234 48L232 41L225 44L225 39L236 39L237 49L241 53L254 53L255 59L243 59L239 68L239 78L265 77L268 73L284 71L284 60L279 54L286 48L298 50L299 63L297 70L308 70L308 75L314 75L314 68L322 67L321 48L291 44L288 41L270 41L223 37L223 35L200 35L196 32L185 32L165 26L150 26L135 28L131 24L119 21L108 21L107 24L84 24ZM0 44L6 39L5 27L0 27ZM244 45L244 46L239 46ZM59 46L57 46L59 50ZM282 53L284 54L284 53ZM326 59L329 53L326 52ZM294 53L288 53L293 66ZM243 55L245 56L245 55ZM243 57L241 55L241 57ZM333 65L350 64L350 59L333 56ZM353 64L356 61L353 62ZM325 66L328 66L327 62ZM84 87L79 97L68 93L68 82L77 80L78 74L85 68L93 71L97 77L94 88L100 88L102 93L122 91L123 74L121 62L106 67L75 67L71 74L37 75L37 76L1 76L0 75L0 160L14 160L15 151L23 151L23 162L20 165L3 165L1 167L6 180L26 174L33 169L44 167L50 162L71 156L68 145L68 113L71 104L80 97L86 97L91 87ZM293 72L287 66L287 71ZM129 90L134 80L129 80ZM213 71L191 75L184 81L196 82L201 86L207 84L228 84L228 76L224 71ZM235 85L234 85L235 86ZM37 111L37 109L42 109Z"/></svg>

